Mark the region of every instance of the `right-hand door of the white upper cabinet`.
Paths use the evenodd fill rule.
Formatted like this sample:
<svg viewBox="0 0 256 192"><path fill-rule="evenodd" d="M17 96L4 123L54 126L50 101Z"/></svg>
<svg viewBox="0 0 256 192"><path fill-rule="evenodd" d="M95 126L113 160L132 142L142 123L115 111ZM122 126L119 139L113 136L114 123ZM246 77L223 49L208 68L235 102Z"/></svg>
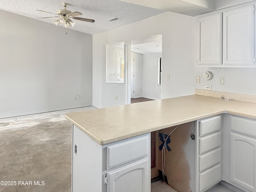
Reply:
<svg viewBox="0 0 256 192"><path fill-rule="evenodd" d="M223 64L254 64L254 7L223 12Z"/></svg>

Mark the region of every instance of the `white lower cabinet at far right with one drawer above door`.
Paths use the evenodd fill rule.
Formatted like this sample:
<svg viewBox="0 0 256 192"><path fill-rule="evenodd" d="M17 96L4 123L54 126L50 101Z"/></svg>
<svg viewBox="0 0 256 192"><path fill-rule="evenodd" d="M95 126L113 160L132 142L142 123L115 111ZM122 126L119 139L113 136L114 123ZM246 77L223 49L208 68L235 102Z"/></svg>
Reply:
<svg viewBox="0 0 256 192"><path fill-rule="evenodd" d="M230 178L227 182L256 192L256 120L228 116L230 121Z"/></svg>

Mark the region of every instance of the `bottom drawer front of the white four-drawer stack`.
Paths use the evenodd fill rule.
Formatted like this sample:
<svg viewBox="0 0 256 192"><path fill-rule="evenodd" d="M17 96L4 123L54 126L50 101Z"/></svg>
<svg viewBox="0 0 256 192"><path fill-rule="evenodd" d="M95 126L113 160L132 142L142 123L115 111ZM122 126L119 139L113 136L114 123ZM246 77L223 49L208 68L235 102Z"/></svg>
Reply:
<svg viewBox="0 0 256 192"><path fill-rule="evenodd" d="M221 167L220 164L200 173L199 176L199 191L208 189L209 187L217 184L221 180Z"/></svg>

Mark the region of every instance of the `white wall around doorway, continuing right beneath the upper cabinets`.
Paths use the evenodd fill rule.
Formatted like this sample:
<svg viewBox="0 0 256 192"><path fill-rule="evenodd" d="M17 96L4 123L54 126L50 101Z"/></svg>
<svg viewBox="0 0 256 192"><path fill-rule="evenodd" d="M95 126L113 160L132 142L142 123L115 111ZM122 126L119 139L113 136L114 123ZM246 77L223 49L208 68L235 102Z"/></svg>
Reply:
<svg viewBox="0 0 256 192"><path fill-rule="evenodd" d="M196 18L165 12L126 26L93 35L93 105L100 107L125 104L114 101L115 94L124 98L122 85L107 85L105 64L96 53L102 46L116 42L129 42L147 36L162 34L162 98L194 94L195 88L204 89L211 85L212 90L256 95L256 68L201 68L196 65ZM102 54L103 56L103 54ZM103 65L103 66L102 66ZM102 79L99 70L102 69ZM214 78L206 81L202 74L210 70ZM170 74L170 80L166 75ZM196 84L196 76L201 83ZM219 85L219 77L224 77L224 86ZM103 102L104 100L104 102Z"/></svg>

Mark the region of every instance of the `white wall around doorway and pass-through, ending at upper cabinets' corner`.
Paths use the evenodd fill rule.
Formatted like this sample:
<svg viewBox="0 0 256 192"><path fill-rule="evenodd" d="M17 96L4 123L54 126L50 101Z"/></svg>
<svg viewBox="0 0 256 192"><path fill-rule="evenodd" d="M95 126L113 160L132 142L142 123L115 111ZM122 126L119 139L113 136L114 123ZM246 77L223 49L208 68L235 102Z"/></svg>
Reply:
<svg viewBox="0 0 256 192"><path fill-rule="evenodd" d="M93 35L93 106L106 107L125 104L125 100L116 102L114 95L124 95L125 88L120 84L109 85L104 82L106 80L106 64L102 62L104 45L156 34L163 34L163 79L166 79L164 78L166 74L170 74L170 81L163 80L162 82L162 98L194 94L196 18L165 12ZM100 53L102 54L100 55Z"/></svg>

